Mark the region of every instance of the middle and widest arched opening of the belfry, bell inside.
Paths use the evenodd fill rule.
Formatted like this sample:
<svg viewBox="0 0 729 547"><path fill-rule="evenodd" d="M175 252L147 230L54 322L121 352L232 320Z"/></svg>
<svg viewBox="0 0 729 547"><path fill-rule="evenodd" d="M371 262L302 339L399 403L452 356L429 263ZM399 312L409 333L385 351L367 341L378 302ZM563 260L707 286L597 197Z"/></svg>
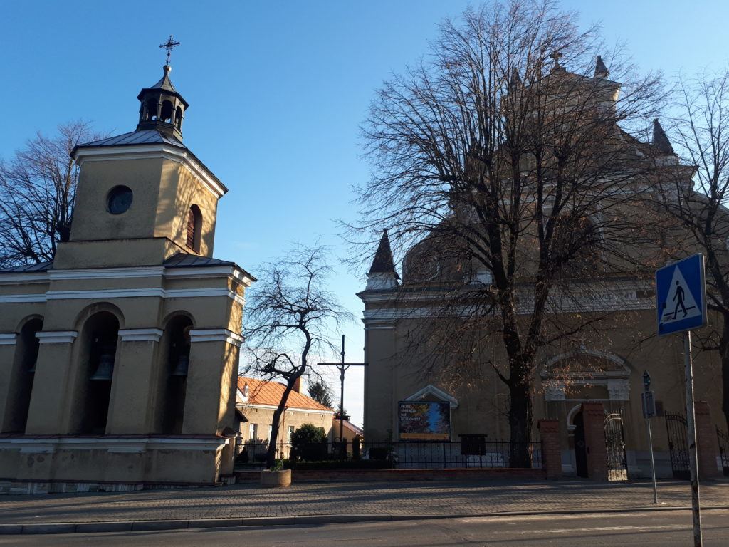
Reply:
<svg viewBox="0 0 729 547"><path fill-rule="evenodd" d="M84 325L79 361L82 407L78 430L82 434L104 435L106 432L118 338L119 320L109 311L99 311Z"/></svg>

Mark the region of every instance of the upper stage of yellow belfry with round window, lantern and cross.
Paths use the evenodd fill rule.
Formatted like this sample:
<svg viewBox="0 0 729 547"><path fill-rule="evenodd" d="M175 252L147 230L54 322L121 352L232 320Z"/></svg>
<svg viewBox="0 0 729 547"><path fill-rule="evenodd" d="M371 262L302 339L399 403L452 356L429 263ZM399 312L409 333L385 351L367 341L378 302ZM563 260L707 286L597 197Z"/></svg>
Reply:
<svg viewBox="0 0 729 547"><path fill-rule="evenodd" d="M178 254L211 257L217 201L227 192L182 144L187 101L163 76L143 88L135 131L77 146L79 183L70 240L56 268L160 265Z"/></svg>

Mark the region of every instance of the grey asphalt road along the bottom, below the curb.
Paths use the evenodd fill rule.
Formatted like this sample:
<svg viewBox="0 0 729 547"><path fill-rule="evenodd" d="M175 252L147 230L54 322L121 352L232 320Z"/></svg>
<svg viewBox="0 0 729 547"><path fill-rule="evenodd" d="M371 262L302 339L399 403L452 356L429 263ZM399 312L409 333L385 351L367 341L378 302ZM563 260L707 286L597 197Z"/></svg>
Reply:
<svg viewBox="0 0 729 547"><path fill-rule="evenodd" d="M705 547L729 546L729 510L703 512ZM690 546L688 511L472 517L125 534L0 536L0 546Z"/></svg>

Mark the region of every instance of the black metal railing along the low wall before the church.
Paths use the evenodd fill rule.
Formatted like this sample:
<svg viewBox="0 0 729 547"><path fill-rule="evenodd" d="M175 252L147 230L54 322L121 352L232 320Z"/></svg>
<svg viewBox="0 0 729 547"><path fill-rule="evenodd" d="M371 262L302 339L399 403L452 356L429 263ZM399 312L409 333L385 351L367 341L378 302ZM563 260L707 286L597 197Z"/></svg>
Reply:
<svg viewBox="0 0 729 547"><path fill-rule="evenodd" d="M238 465L264 465L268 443L236 443ZM343 455L343 454L346 454ZM363 443L314 443L292 447L276 444L276 457L306 462L362 460L386 462L394 469L542 468L542 444L512 443L483 436L461 441L394 441Z"/></svg>

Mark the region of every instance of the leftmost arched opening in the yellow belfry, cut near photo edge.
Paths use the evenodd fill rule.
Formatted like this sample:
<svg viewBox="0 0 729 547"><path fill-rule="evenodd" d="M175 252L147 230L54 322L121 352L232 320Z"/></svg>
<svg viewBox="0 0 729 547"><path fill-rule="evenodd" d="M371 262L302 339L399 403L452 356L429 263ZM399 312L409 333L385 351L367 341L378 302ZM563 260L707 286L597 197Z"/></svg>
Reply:
<svg viewBox="0 0 729 547"><path fill-rule="evenodd" d="M10 420L4 432L24 433L28 423L28 410L31 406L31 392L36 373L39 342L36 333L43 329L43 319L34 318L20 329L15 346L15 368L13 371L15 387L10 393L15 397L12 403Z"/></svg>

